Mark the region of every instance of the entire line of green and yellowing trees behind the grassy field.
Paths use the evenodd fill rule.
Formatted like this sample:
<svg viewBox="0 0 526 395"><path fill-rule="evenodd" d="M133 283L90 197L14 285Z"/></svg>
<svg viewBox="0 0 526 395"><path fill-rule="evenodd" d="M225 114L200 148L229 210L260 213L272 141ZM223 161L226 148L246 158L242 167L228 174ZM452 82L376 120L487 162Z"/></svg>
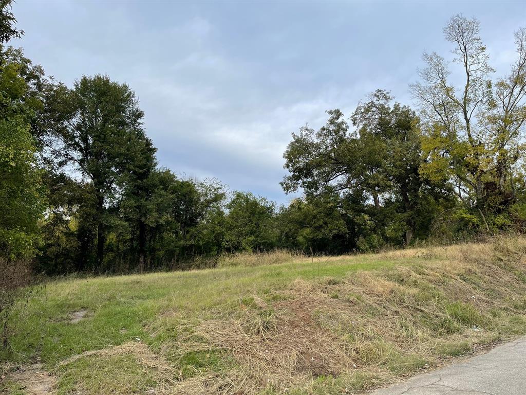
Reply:
<svg viewBox="0 0 526 395"><path fill-rule="evenodd" d="M417 105L388 91L292 134L277 206L159 165L135 92L107 75L69 87L8 43L0 17L0 255L48 274L188 267L240 251L375 251L526 227L526 31L500 74L479 22L444 27L453 59L424 53ZM498 76L500 75L500 76ZM498 77L495 77L498 76Z"/></svg>

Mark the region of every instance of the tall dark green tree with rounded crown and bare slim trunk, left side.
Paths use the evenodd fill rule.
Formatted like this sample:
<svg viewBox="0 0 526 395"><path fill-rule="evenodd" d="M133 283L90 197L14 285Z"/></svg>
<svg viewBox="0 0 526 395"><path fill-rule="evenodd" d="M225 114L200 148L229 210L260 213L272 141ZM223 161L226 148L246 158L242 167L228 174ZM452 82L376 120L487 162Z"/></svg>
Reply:
<svg viewBox="0 0 526 395"><path fill-rule="evenodd" d="M135 93L106 75L84 76L73 89L57 86L49 98L55 111L49 149L56 163L91 186L97 235L97 268L104 263L107 208L116 200L118 181L130 169L138 140L147 141ZM131 159L133 161L133 159ZM87 202L87 203L88 203Z"/></svg>

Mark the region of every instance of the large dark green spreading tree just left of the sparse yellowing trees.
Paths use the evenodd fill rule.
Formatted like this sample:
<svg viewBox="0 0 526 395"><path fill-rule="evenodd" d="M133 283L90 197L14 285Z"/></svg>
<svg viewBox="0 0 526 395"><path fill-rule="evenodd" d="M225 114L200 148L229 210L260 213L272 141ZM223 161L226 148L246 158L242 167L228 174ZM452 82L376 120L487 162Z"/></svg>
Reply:
<svg viewBox="0 0 526 395"><path fill-rule="evenodd" d="M285 190L337 193L366 249L425 238L432 218L454 204L444 183L420 175L425 161L416 114L391 101L377 91L360 104L351 116L353 132L339 110L329 111L325 126L317 132L304 127L285 152Z"/></svg>

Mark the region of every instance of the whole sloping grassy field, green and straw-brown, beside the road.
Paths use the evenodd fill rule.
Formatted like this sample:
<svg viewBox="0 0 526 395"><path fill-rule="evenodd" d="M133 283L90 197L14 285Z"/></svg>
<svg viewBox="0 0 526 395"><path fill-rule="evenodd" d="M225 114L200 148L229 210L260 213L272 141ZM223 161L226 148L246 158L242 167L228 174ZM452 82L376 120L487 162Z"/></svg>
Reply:
<svg viewBox="0 0 526 395"><path fill-rule="evenodd" d="M337 394L526 333L526 239L49 282L0 353L13 394Z"/></svg>

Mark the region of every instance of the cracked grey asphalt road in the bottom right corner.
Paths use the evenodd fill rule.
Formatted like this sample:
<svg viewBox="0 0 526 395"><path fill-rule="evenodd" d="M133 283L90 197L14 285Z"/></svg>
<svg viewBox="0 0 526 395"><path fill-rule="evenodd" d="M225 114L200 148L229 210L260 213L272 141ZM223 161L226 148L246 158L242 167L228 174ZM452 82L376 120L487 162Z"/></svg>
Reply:
<svg viewBox="0 0 526 395"><path fill-rule="evenodd" d="M526 338L373 395L526 395Z"/></svg>

